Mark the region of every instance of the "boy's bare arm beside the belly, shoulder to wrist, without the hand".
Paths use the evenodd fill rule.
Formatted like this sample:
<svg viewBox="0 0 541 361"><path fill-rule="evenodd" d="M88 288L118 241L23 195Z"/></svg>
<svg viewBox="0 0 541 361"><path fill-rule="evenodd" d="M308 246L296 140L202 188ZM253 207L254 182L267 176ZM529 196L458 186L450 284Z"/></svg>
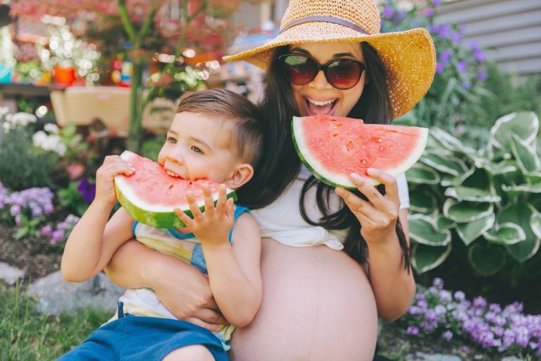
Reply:
<svg viewBox="0 0 541 361"><path fill-rule="evenodd" d="M261 235L251 214L235 222L232 242L218 247L203 246L214 299L232 325L244 327L261 305Z"/></svg>

